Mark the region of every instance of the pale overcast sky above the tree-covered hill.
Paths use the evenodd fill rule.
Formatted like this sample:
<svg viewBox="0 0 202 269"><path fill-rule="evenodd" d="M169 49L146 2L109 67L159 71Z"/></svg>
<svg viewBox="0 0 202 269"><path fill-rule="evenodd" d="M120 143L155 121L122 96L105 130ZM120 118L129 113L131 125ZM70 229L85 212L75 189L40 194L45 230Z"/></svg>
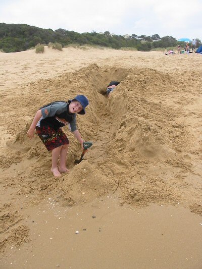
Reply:
<svg viewBox="0 0 202 269"><path fill-rule="evenodd" d="M199 38L202 0L0 0L0 22L69 31Z"/></svg>

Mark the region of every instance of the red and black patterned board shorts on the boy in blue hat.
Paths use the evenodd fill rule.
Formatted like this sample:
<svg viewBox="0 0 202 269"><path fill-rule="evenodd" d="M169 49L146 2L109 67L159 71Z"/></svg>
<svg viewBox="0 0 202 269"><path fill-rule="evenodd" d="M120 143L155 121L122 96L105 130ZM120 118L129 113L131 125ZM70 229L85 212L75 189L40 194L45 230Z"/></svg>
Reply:
<svg viewBox="0 0 202 269"><path fill-rule="evenodd" d="M36 133L47 148L48 151L56 147L69 144L69 140L60 128L58 131L49 126L36 126Z"/></svg>

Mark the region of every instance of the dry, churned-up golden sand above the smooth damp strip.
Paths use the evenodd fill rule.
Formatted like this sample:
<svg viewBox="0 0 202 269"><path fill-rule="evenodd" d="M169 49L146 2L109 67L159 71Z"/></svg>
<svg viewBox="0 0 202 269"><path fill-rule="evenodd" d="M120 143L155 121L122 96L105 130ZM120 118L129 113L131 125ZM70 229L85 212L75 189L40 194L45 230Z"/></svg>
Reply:
<svg viewBox="0 0 202 269"><path fill-rule="evenodd" d="M123 203L181 204L202 216L201 56L111 49L1 53L0 250L28 240L19 208L54 195L63 206L119 191ZM105 95L111 80L121 83ZM93 146L70 138L70 173L55 179L51 154L26 132L38 108L88 97L77 126ZM16 233L18 236L15 236Z"/></svg>

